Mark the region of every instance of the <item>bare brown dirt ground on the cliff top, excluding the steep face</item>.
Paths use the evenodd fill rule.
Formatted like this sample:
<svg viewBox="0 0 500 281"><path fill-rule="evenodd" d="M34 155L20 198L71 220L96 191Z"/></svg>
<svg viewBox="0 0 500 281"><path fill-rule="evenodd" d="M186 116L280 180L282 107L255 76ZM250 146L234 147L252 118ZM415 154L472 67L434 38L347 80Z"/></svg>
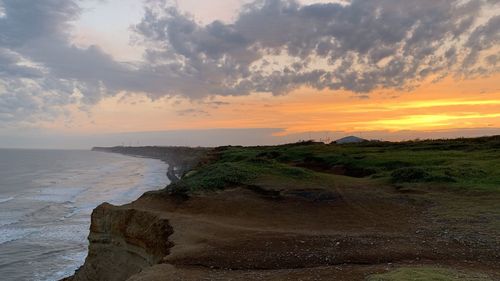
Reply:
<svg viewBox="0 0 500 281"><path fill-rule="evenodd" d="M170 254L134 281L366 280L420 265L500 280L498 202L362 182L263 183L189 199L149 193L121 208L160 214L174 231Z"/></svg>

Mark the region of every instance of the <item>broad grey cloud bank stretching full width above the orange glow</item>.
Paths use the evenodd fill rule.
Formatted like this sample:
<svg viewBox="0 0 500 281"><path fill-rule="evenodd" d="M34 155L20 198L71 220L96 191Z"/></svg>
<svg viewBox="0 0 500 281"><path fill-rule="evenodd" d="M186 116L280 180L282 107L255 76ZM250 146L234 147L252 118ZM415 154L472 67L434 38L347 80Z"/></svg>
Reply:
<svg viewBox="0 0 500 281"><path fill-rule="evenodd" d="M500 9L496 0L256 0L234 22L206 25L147 0L133 26L146 48L135 63L72 44L80 1L0 0L0 124L50 120L118 92L198 99L308 86L367 95L499 71L500 17L482 16Z"/></svg>

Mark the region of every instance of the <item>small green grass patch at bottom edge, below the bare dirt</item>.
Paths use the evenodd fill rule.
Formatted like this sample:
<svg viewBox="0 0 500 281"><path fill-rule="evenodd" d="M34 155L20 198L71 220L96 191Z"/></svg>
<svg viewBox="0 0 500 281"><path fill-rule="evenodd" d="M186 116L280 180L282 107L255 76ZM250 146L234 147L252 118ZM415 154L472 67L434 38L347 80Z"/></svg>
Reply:
<svg viewBox="0 0 500 281"><path fill-rule="evenodd" d="M369 276L367 281L492 281L484 274L437 267L402 267Z"/></svg>

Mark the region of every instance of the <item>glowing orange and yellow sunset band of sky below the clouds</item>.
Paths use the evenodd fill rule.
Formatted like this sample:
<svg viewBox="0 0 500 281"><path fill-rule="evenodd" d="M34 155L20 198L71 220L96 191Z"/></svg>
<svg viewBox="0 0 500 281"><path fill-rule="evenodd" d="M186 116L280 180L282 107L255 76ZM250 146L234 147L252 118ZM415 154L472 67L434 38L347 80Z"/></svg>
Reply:
<svg viewBox="0 0 500 281"><path fill-rule="evenodd" d="M299 89L288 95L252 94L203 101L142 96L107 98L89 114L46 124L68 133L116 133L212 128L282 128L310 131L500 128L500 74L474 80L424 82L411 92L369 95ZM139 105L139 106L138 106ZM416 136L418 137L418 136Z"/></svg>

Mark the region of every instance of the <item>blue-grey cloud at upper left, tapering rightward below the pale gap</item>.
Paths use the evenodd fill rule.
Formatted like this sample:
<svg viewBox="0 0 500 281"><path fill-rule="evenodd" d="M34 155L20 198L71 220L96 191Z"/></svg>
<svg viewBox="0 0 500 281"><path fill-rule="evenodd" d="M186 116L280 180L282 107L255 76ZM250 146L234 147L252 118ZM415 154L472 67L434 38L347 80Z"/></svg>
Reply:
<svg viewBox="0 0 500 281"><path fill-rule="evenodd" d="M98 46L71 43L77 0L0 0L0 123L33 123L120 91L165 93L146 66L117 62Z"/></svg>

